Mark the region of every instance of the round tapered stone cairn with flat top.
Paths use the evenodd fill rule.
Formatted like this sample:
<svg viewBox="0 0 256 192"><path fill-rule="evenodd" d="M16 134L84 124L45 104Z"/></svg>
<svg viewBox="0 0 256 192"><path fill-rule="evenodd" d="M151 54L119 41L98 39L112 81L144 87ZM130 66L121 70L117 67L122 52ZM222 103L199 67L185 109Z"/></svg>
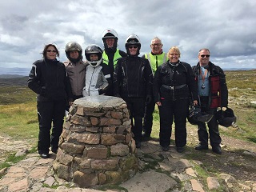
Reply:
<svg viewBox="0 0 256 192"><path fill-rule="evenodd" d="M54 172L80 187L118 184L138 171L136 153L122 98L79 98L66 118Z"/></svg>

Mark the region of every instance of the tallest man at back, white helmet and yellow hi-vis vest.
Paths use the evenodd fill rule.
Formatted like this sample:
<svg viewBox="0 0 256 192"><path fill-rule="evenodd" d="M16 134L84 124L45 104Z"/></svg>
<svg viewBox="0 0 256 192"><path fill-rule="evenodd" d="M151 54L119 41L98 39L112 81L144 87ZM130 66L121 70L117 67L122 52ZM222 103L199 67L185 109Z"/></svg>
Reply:
<svg viewBox="0 0 256 192"><path fill-rule="evenodd" d="M102 34L102 41L104 50L102 54L103 63L110 66L111 81L113 82L114 67L117 65L118 58L126 57L127 54L119 50L118 47L118 33L112 29L106 29ZM113 95L113 90L110 90L108 95Z"/></svg>

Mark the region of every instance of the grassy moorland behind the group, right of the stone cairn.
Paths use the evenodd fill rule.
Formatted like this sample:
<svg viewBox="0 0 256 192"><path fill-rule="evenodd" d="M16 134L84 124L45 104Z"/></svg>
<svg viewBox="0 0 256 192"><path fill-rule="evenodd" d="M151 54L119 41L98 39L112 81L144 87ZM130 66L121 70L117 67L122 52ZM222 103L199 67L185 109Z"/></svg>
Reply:
<svg viewBox="0 0 256 192"><path fill-rule="evenodd" d="M234 110L238 120L234 126L225 131L220 130L220 132L227 136L256 143L256 107L250 104L251 101L256 101L256 73L254 70L226 71L225 73L229 89L229 107ZM159 126L158 108L155 107L153 138L158 138ZM196 129L189 123L187 126Z"/></svg>

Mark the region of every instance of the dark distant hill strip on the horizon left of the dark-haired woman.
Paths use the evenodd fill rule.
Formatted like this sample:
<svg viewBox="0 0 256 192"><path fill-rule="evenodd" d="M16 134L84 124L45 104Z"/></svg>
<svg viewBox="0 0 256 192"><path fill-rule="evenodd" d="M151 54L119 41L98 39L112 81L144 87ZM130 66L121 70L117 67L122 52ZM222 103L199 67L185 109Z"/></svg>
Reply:
<svg viewBox="0 0 256 192"><path fill-rule="evenodd" d="M8 76L9 78L2 78L2 75L0 75L0 86L27 86L28 76L18 75L19 78L10 78L10 74Z"/></svg>

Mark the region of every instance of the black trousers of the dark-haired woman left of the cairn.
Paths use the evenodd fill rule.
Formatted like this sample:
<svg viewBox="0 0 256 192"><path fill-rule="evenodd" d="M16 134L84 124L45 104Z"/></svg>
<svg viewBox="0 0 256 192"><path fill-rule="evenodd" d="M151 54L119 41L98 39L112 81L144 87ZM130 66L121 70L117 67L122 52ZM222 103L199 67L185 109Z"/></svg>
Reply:
<svg viewBox="0 0 256 192"><path fill-rule="evenodd" d="M59 137L62 134L66 101L38 102L38 153L58 150ZM51 130L52 128L52 130ZM51 133L50 133L51 130Z"/></svg>

